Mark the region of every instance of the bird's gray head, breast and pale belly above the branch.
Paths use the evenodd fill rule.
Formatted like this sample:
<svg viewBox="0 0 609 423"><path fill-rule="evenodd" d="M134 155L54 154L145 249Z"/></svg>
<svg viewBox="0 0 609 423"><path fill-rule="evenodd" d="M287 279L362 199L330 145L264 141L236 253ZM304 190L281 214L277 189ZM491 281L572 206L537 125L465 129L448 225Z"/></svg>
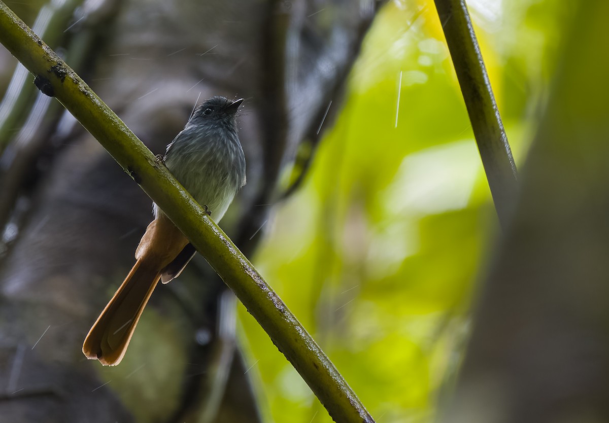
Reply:
<svg viewBox="0 0 609 423"><path fill-rule="evenodd" d="M245 184L245 156L236 112L243 99L212 97L195 108L183 130L167 145L164 163L186 191L220 222ZM155 217L160 214L153 205Z"/></svg>

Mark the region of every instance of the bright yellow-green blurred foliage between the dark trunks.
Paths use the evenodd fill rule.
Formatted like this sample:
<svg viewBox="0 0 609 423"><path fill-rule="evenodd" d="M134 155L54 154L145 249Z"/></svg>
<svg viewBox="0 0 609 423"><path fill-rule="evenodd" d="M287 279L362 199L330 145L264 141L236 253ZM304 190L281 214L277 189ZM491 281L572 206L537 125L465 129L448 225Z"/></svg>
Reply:
<svg viewBox="0 0 609 423"><path fill-rule="evenodd" d="M468 6L521 165L572 2ZM349 87L305 184L264 226L255 265L378 422L429 422L499 231L433 2L384 7ZM239 315L266 420L330 422L243 307Z"/></svg>

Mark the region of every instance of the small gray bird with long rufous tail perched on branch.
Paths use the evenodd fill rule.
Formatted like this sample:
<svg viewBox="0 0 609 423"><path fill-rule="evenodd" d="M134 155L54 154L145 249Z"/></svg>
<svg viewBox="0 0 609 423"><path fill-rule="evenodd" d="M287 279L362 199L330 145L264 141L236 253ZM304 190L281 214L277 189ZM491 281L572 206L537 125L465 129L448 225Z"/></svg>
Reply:
<svg viewBox="0 0 609 423"><path fill-rule="evenodd" d="M245 184L245 156L236 113L243 99L213 97L195 108L167 145L164 164L214 222L220 222ZM159 280L177 277L194 256L188 239L157 205L154 220L135 250L136 262L86 335L82 352L102 365L121 362L135 326Z"/></svg>

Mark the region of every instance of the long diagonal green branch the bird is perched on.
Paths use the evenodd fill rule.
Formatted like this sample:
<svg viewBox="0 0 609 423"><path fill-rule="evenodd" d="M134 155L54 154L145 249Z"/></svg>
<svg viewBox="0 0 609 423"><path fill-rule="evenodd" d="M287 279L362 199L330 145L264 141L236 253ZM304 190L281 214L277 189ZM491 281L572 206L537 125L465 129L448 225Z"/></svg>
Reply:
<svg viewBox="0 0 609 423"><path fill-rule="evenodd" d="M0 42L184 232L252 313L336 422L373 422L328 357L260 274L150 150L40 38L0 2Z"/></svg>

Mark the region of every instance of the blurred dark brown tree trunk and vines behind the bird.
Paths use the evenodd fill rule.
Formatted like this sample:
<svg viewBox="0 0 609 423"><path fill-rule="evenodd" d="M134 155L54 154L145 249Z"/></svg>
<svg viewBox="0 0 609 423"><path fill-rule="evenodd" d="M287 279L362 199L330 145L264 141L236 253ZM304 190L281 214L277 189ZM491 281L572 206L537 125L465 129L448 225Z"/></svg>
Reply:
<svg viewBox="0 0 609 423"><path fill-rule="evenodd" d="M197 99L245 97L248 184L222 227L251 256L270 203L289 189L278 177L302 142L319 141L376 5L131 0L107 3L118 8L110 22L71 30L72 40L97 34L80 71L154 153ZM18 234L0 267L2 421L259 421L236 353L234 299L200 257L157 288L121 365L83 357L86 332L133 264L151 203L88 133L58 116L31 136L40 141L29 140L33 151L9 145L16 159L0 180L19 193L9 205Z"/></svg>

